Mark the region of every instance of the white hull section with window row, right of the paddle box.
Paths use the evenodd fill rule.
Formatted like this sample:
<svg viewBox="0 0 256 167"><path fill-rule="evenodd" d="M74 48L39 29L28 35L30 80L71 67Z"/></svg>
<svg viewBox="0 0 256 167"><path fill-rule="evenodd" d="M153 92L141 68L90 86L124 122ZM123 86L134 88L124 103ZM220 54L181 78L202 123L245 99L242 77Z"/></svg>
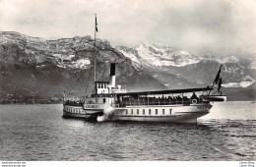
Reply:
<svg viewBox="0 0 256 167"><path fill-rule="evenodd" d="M190 106L132 106L114 109L112 120L141 121L141 122L169 122L169 123L197 123L197 118L210 112L211 104L198 104ZM133 114L129 111L133 109ZM151 114L149 110L151 109ZM127 113L128 110L128 113ZM137 113L137 110L139 112ZM144 110L144 111L143 111ZM158 110L158 114L156 114ZM163 112L164 111L164 112Z"/></svg>

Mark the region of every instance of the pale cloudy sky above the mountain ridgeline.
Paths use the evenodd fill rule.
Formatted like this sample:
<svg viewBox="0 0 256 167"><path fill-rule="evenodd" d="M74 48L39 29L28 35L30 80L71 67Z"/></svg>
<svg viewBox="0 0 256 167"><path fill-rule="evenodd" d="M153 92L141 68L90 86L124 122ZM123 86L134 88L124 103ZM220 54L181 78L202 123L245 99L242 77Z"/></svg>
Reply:
<svg viewBox="0 0 256 167"><path fill-rule="evenodd" d="M45 39L95 34L196 55L256 58L256 0L0 0L0 30Z"/></svg>

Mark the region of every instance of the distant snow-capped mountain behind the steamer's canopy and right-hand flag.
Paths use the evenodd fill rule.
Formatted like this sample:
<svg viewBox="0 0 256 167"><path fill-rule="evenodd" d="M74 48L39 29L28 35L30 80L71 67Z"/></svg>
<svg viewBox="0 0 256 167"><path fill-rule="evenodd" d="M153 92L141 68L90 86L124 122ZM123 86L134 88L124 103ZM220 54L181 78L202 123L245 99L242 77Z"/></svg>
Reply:
<svg viewBox="0 0 256 167"><path fill-rule="evenodd" d="M157 73L152 76L162 80L164 84L167 84L168 79L159 79L158 73L175 76L171 79L172 82L183 80L190 83L211 83L216 75L212 74L213 69L218 71L221 64L224 65L224 87L247 87L255 83L251 70L256 69L256 63L242 57L199 57L186 51L176 51L168 45L146 42L134 48L118 46L116 49L130 58L134 67L143 67ZM196 73L190 74L191 71ZM181 74L180 77L177 74Z"/></svg>

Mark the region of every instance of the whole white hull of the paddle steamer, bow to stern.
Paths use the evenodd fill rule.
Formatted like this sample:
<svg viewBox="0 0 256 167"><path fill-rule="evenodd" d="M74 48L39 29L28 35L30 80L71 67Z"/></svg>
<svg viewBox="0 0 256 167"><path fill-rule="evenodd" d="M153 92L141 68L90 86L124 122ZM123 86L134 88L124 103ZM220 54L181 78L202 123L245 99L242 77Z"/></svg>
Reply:
<svg viewBox="0 0 256 167"><path fill-rule="evenodd" d="M165 123L197 123L197 118L210 112L211 104L197 105L153 105L127 106L104 109L84 109L83 107L65 106L64 117L96 120L102 117L104 121L139 121Z"/></svg>

